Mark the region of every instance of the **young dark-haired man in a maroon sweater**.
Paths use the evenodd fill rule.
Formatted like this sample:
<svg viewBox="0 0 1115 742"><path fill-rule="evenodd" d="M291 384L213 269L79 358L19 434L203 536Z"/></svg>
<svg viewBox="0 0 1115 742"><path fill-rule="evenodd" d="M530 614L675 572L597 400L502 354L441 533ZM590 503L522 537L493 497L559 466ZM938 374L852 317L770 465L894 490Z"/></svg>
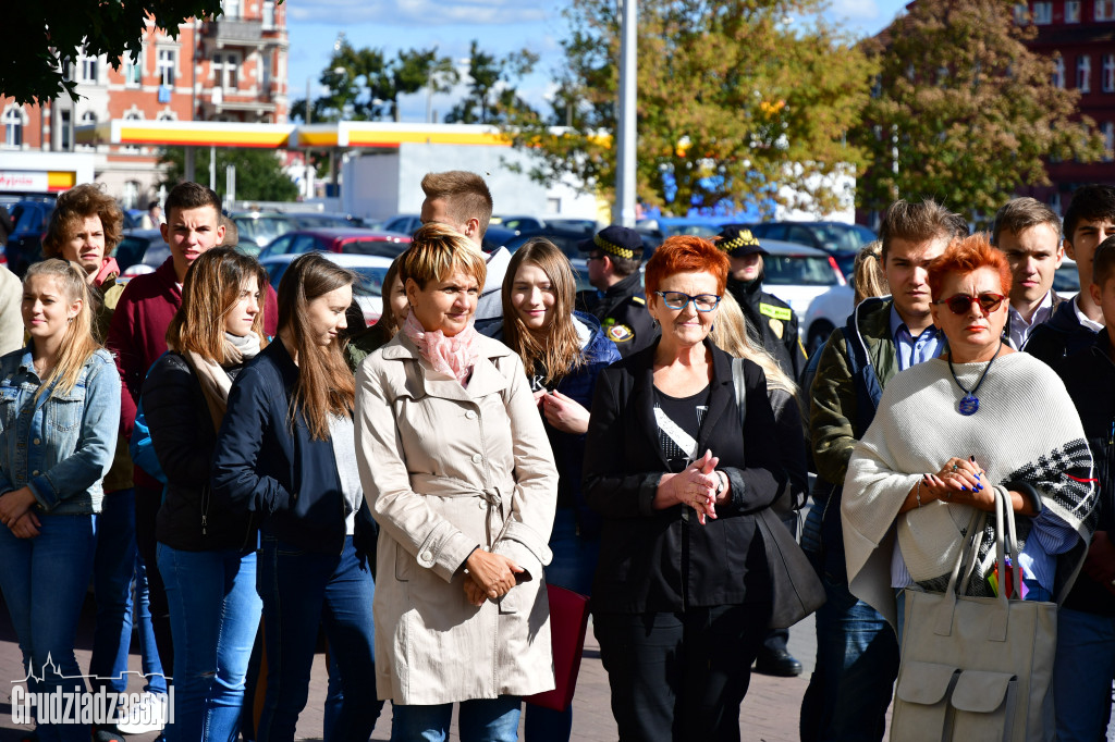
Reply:
<svg viewBox="0 0 1115 742"><path fill-rule="evenodd" d="M120 372L120 435L130 439L136 403L147 371L166 352L166 329L182 305L186 271L224 236L221 198L205 186L181 183L166 197L166 223L159 227L171 256L154 273L136 276L120 295L105 343ZM274 335L279 306L274 289L266 287L264 331ZM155 516L163 485L135 468L136 544L147 567L151 618L163 667L174 666L166 590L155 563Z"/></svg>

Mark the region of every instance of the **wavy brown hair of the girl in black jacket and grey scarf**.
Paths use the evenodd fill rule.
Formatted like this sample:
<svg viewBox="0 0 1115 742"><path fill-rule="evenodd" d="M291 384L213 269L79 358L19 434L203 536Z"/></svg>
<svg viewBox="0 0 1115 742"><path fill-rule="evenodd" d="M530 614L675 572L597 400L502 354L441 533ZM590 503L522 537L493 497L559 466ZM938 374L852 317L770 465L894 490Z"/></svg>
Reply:
<svg viewBox="0 0 1115 742"><path fill-rule="evenodd" d="M206 250L186 271L182 283L182 306L166 329L166 346L178 353L193 351L202 358L224 363L224 315L240 301L241 287L252 276L255 276L260 290L260 312L252 322L252 332L259 336L260 348L265 348L263 304L268 274L254 257L232 247Z"/></svg>

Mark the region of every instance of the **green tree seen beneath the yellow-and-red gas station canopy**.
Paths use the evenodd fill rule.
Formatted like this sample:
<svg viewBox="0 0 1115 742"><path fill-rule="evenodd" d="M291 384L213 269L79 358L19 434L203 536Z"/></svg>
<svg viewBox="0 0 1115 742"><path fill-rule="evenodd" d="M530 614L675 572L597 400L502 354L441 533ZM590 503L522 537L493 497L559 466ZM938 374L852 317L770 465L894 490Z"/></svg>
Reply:
<svg viewBox="0 0 1115 742"><path fill-rule="evenodd" d="M162 185L173 188L183 179L185 173L185 150L182 147L163 149L159 164L166 166L166 176ZM198 147L194 162L198 179L205 180L209 173L210 149ZM225 168L236 166L236 199L237 201L294 201L298 198L298 186L283 173L279 155L271 149L249 147L216 148L216 192L225 197Z"/></svg>

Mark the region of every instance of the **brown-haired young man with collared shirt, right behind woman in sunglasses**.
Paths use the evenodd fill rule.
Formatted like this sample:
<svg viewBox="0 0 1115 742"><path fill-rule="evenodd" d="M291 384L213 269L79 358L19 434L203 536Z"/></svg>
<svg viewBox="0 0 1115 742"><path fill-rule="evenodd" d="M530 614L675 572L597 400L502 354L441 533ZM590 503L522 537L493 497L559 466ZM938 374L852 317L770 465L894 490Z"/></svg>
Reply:
<svg viewBox="0 0 1115 742"><path fill-rule="evenodd" d="M1065 301L1053 290L1065 256L1060 218L1036 198L1014 198L995 215L991 244L1007 256L1012 279L1004 335L1011 348L1024 350L1034 330Z"/></svg>

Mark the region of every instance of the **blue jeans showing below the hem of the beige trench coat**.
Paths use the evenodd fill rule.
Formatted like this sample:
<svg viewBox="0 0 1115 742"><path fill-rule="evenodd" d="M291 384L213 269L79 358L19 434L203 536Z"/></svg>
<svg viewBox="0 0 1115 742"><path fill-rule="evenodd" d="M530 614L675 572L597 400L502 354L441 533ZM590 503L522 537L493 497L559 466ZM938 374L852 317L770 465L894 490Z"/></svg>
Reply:
<svg viewBox="0 0 1115 742"><path fill-rule="evenodd" d="M462 701L457 720L460 742L515 742L518 739L517 695ZM453 704L405 706L391 704L391 742L443 742L449 735Z"/></svg>

